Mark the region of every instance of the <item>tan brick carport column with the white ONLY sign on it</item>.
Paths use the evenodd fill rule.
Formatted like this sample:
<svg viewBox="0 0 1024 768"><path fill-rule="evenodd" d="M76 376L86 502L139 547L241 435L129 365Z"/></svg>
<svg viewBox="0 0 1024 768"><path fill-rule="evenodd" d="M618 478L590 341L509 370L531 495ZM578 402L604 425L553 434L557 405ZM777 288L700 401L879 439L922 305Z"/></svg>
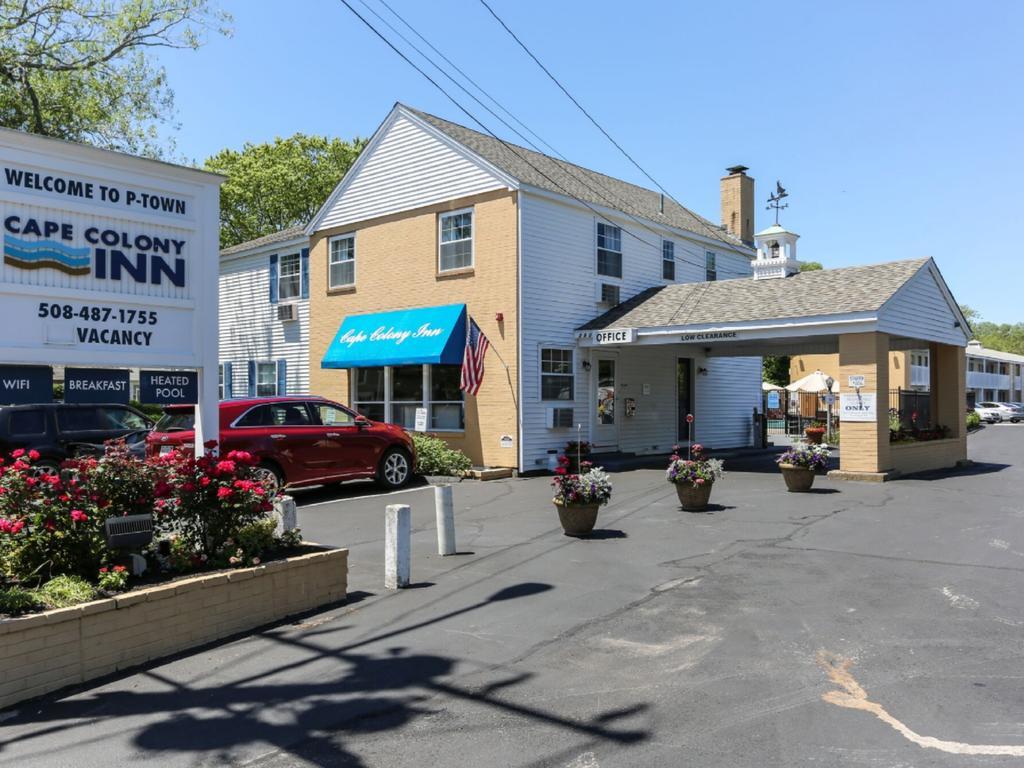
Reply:
<svg viewBox="0 0 1024 768"><path fill-rule="evenodd" d="M863 376L861 394L876 395L873 422L840 423L840 470L885 472L889 460L889 335L844 334L839 337L839 384L851 393L850 376Z"/></svg>

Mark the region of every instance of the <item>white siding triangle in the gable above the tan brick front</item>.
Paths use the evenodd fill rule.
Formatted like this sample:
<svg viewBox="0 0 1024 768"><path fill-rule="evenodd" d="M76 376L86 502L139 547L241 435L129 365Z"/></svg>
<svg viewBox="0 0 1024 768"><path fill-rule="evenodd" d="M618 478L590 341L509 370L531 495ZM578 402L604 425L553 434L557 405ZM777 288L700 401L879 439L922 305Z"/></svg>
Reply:
<svg viewBox="0 0 1024 768"><path fill-rule="evenodd" d="M317 229L505 188L479 163L396 114L367 147L317 223Z"/></svg>

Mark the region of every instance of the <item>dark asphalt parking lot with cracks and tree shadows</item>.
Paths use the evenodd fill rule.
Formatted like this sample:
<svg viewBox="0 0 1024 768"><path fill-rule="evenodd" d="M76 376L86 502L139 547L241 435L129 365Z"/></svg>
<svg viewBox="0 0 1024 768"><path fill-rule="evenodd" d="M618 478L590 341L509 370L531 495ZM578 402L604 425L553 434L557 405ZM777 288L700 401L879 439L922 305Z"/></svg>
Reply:
<svg viewBox="0 0 1024 768"><path fill-rule="evenodd" d="M461 483L446 558L431 488L309 492L348 605L23 708L0 764L1021 765L1024 427L970 453L808 495L746 463L703 514L623 473L589 541L545 478ZM398 501L414 588L388 593Z"/></svg>

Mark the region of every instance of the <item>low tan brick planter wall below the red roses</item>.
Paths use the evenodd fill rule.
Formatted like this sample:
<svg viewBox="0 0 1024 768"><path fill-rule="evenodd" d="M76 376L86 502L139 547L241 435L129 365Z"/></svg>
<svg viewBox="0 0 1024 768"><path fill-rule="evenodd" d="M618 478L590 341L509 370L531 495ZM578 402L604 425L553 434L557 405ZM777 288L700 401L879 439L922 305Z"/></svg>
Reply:
<svg viewBox="0 0 1024 768"><path fill-rule="evenodd" d="M0 708L345 599L348 550L0 621Z"/></svg>

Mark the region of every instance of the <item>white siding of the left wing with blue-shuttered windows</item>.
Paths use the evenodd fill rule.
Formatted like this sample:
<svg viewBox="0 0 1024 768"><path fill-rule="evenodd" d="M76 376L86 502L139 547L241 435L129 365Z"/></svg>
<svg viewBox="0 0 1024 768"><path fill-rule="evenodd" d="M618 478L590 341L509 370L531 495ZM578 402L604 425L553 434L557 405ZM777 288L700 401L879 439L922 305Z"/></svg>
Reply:
<svg viewBox="0 0 1024 768"><path fill-rule="evenodd" d="M231 364L234 397L248 392L249 360L288 360L287 394L309 392L309 300L296 300L299 318L287 323L278 319L280 304L270 303L270 254L306 245L279 243L221 261L220 362Z"/></svg>

